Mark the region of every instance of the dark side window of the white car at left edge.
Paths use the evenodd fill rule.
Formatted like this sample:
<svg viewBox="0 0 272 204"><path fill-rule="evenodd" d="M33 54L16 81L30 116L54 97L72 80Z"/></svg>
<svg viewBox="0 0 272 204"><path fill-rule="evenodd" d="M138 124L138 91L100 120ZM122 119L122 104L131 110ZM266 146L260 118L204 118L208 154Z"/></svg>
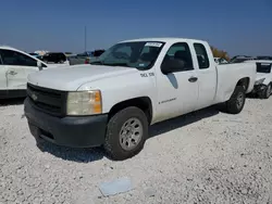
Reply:
<svg viewBox="0 0 272 204"><path fill-rule="evenodd" d="M2 50L1 58L4 65L37 66L37 61L12 50Z"/></svg>

